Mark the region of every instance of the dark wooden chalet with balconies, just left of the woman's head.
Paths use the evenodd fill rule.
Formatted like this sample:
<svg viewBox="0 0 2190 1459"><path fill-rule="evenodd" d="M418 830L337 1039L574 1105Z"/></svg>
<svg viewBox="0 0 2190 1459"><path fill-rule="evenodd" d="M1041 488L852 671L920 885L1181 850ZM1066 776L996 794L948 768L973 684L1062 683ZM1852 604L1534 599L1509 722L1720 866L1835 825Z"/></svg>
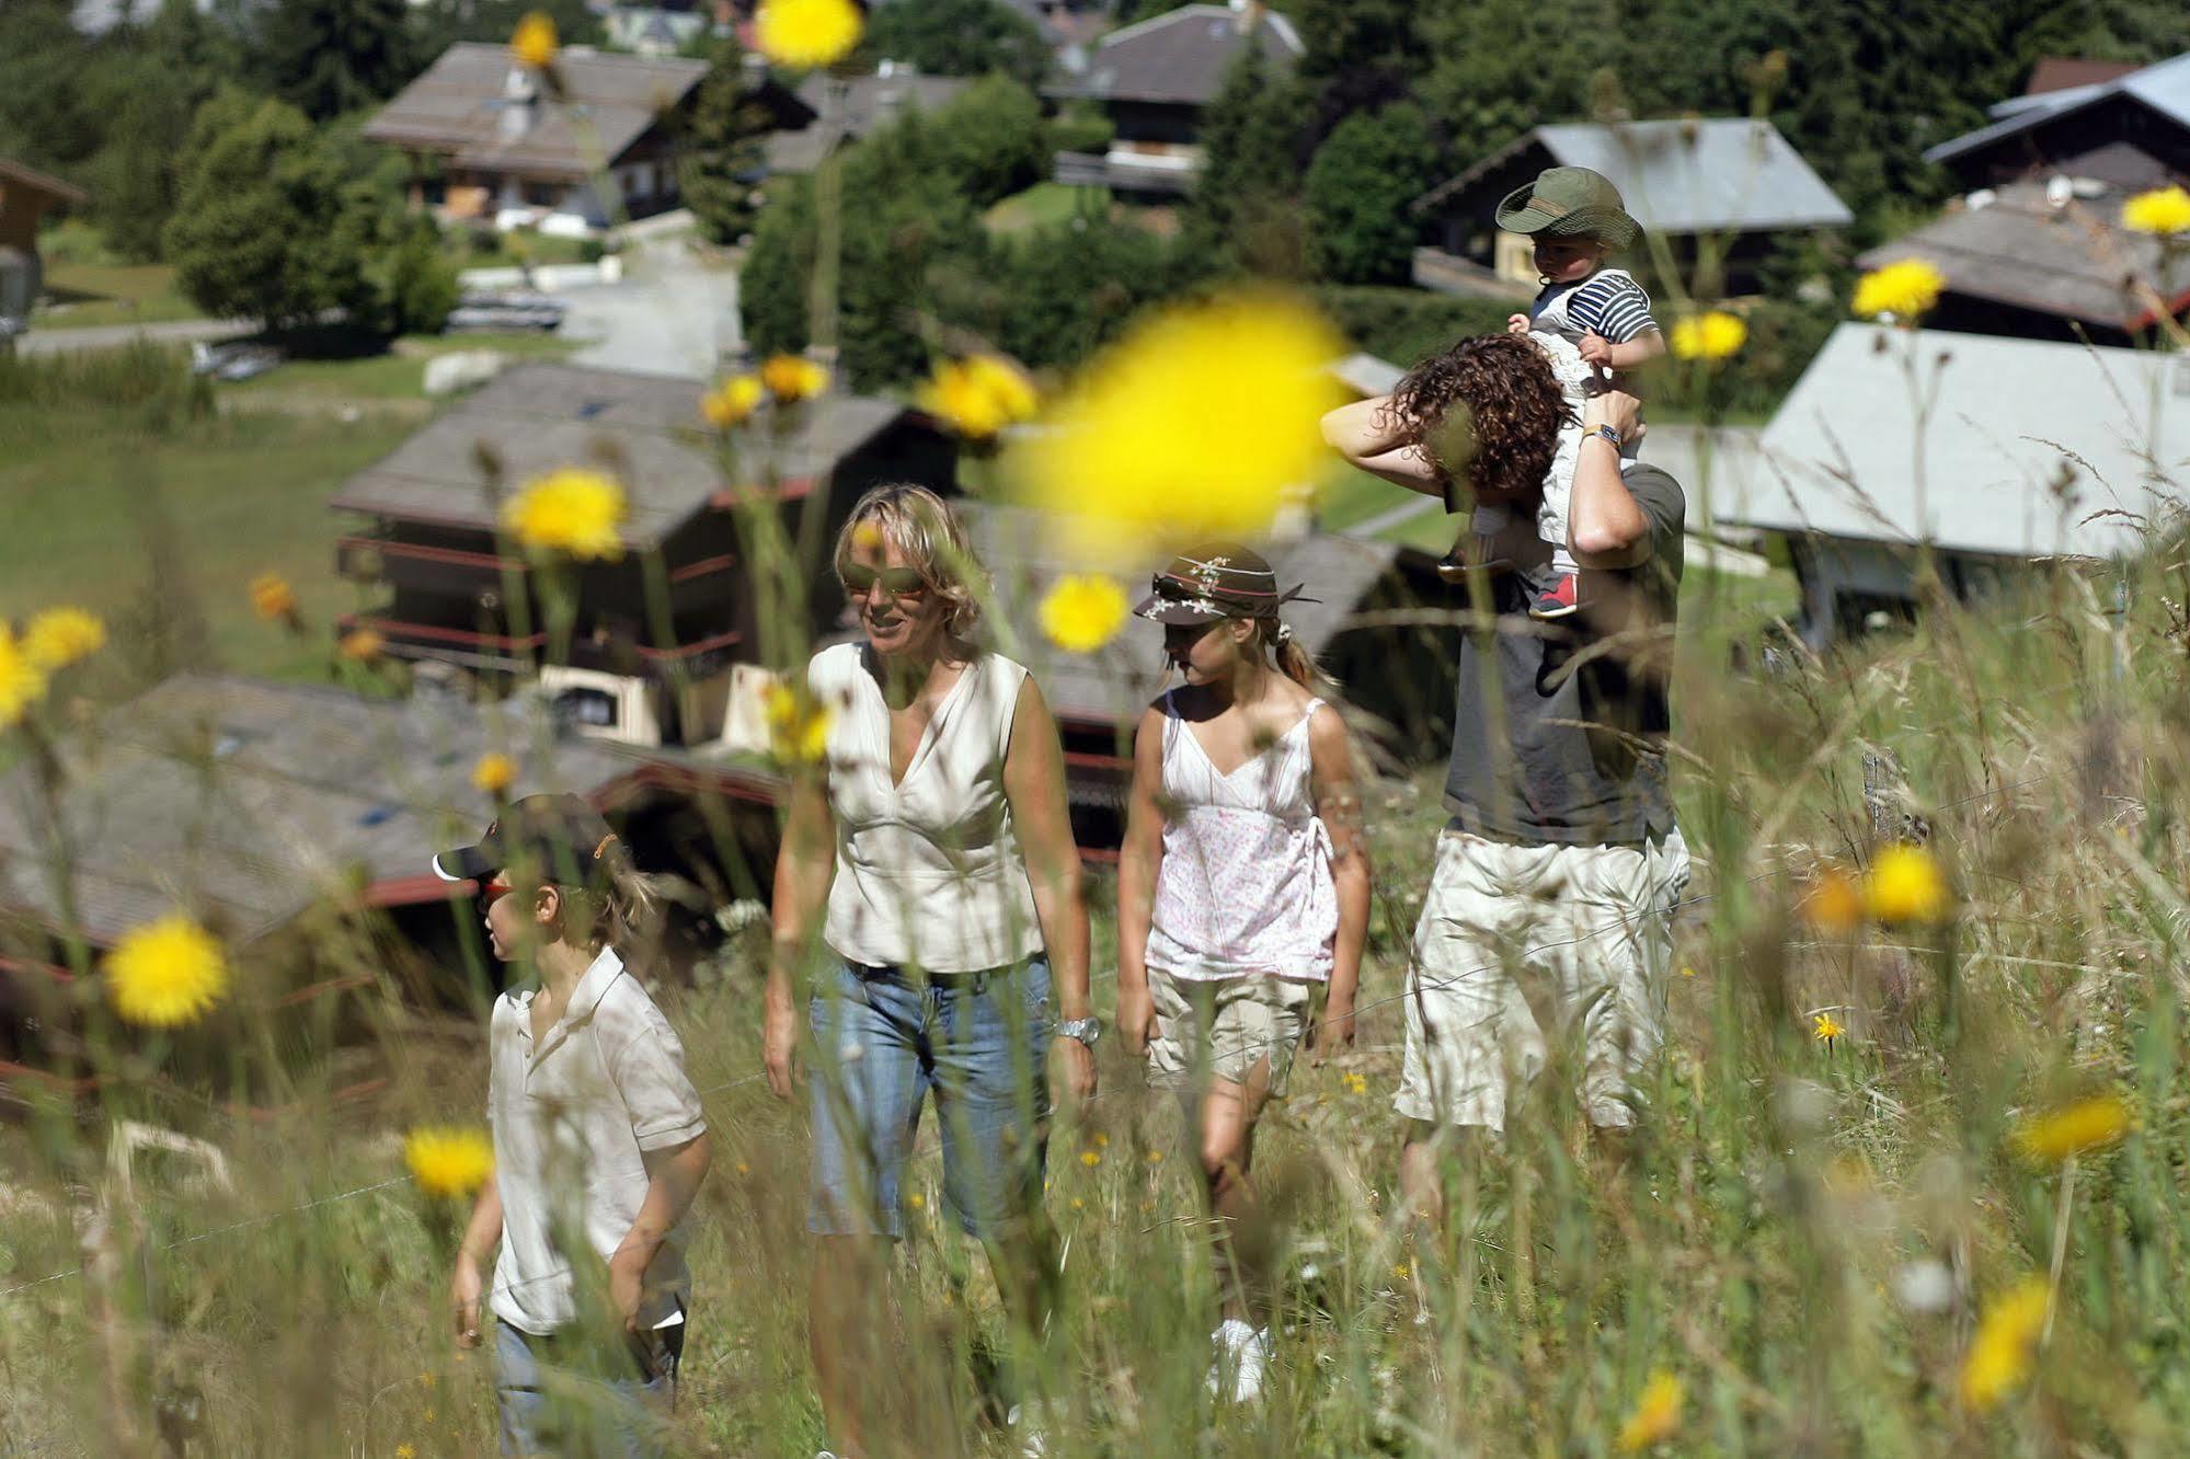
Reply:
<svg viewBox="0 0 2190 1459"><path fill-rule="evenodd" d="M957 443L891 401L828 394L740 436L727 471L699 421L694 381L532 364L506 370L333 497L361 517L337 545L344 576L381 602L342 618L434 673L572 690L580 719L637 745L701 745L734 719L736 673L760 655L751 548L738 504L764 499L808 543L808 635L841 609L823 561L845 513L878 482L955 491ZM766 460L773 458L773 460ZM508 493L593 464L629 497L624 552L548 585L502 532ZM554 642L550 594L574 600Z"/></svg>

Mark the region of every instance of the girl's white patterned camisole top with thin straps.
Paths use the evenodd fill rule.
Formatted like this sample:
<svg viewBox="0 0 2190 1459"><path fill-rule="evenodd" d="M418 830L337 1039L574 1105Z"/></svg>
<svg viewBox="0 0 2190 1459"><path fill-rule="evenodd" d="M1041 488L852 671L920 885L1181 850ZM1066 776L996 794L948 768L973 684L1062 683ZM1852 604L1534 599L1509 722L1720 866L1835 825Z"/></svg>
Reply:
<svg viewBox="0 0 2190 1459"><path fill-rule="evenodd" d="M1338 938L1332 837L1316 815L1307 723L1231 776L1163 697L1163 865L1148 966L1172 977L1327 981Z"/></svg>

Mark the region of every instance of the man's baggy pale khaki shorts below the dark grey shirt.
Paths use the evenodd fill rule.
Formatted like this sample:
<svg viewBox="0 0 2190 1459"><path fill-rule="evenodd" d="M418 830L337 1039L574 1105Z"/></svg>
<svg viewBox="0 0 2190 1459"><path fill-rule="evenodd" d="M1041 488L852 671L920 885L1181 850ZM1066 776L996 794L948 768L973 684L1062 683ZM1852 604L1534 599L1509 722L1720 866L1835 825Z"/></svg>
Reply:
<svg viewBox="0 0 2190 1459"><path fill-rule="evenodd" d="M1675 878L1684 850L1439 837L1393 1108L1502 1130L1509 1091L1559 1038L1590 1124L1634 1124L1634 1078L1662 1041Z"/></svg>

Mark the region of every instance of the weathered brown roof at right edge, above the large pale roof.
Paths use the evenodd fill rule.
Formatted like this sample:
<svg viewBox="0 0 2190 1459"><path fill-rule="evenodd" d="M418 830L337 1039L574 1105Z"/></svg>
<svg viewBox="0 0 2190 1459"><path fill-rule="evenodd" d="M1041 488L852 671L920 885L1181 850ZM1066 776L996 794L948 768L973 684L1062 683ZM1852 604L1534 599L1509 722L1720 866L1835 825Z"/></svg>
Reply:
<svg viewBox="0 0 2190 1459"><path fill-rule="evenodd" d="M1947 276L1953 294L2107 329L2142 329L2148 302L2131 280L2164 278L2162 241L2126 232L2122 202L2109 191L2052 208L2041 184L2015 182L1999 188L1997 202L1953 208L1857 263L1877 269L1925 259Z"/></svg>

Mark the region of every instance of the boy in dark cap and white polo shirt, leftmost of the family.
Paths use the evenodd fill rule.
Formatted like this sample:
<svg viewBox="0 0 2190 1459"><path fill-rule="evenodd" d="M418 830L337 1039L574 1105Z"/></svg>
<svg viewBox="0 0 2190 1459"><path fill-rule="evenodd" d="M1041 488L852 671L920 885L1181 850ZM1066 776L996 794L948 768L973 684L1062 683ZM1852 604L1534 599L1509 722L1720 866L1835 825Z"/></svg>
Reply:
<svg viewBox="0 0 2190 1459"><path fill-rule="evenodd" d="M707 1119L624 966L653 935L653 883L567 793L510 804L434 872L477 883L493 953L519 970L491 1021L495 1172L449 1282L456 1341L480 1345L484 1303L502 1452L659 1452L692 1295L677 1227L707 1174Z"/></svg>

